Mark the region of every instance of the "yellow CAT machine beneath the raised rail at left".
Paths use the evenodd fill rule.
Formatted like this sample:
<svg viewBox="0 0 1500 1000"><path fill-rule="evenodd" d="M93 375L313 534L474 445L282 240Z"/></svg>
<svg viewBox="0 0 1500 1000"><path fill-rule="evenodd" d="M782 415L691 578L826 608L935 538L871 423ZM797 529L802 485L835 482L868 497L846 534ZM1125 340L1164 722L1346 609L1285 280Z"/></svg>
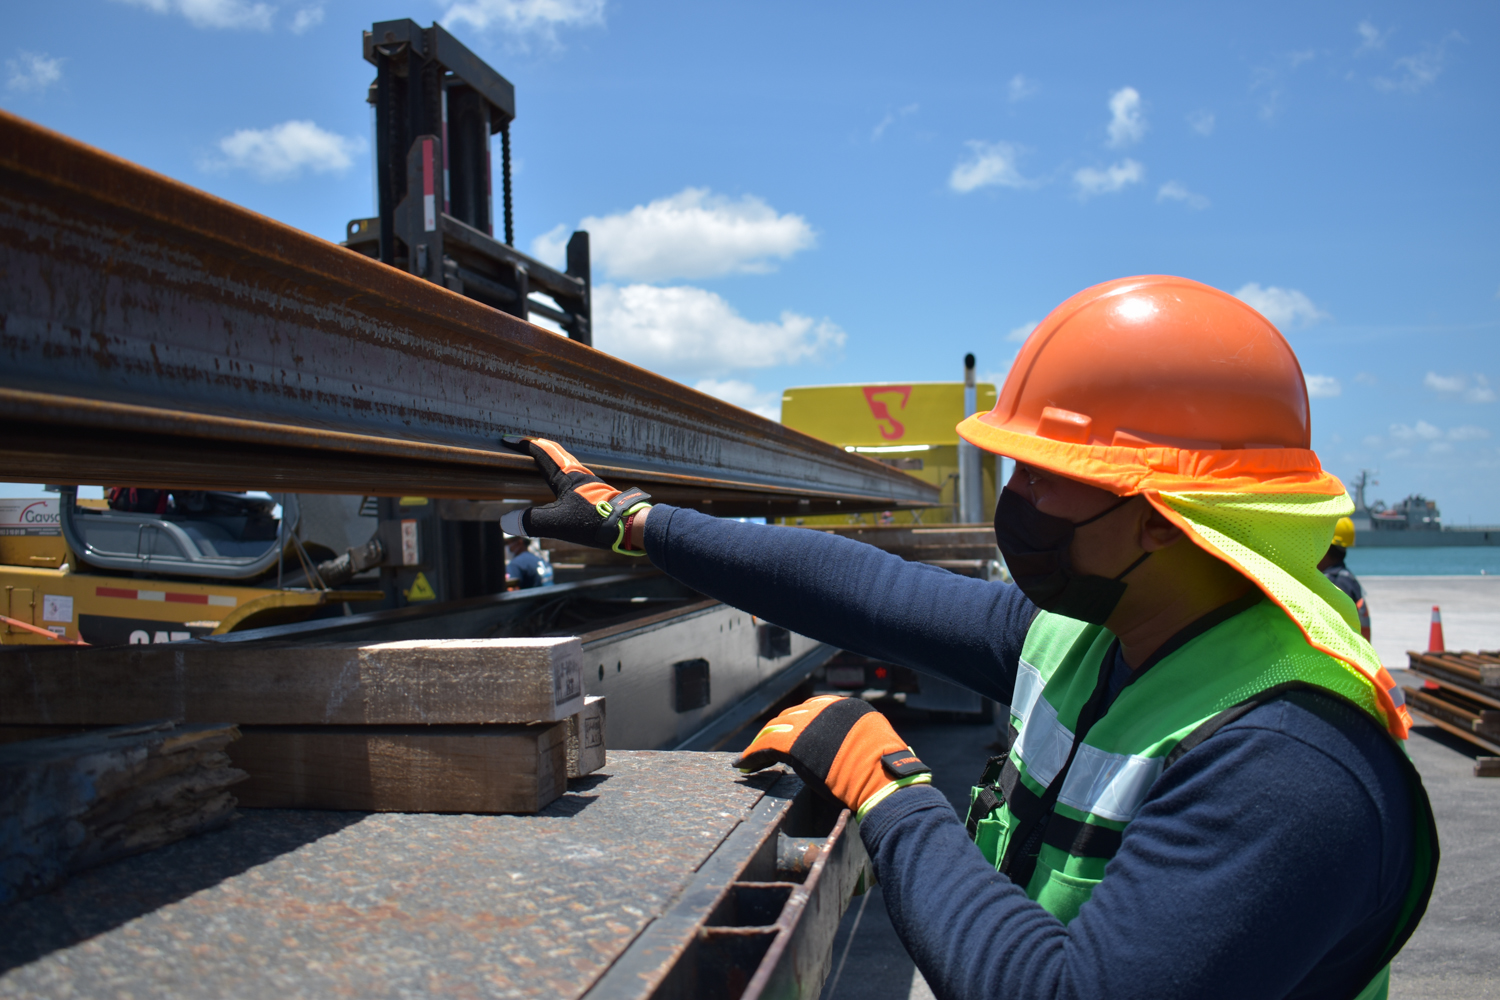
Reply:
<svg viewBox="0 0 1500 1000"><path fill-rule="evenodd" d="M162 493L160 510L142 511L54 489L0 499L0 645L177 642L384 597L338 589L380 562L378 538L356 538L334 556L327 540L308 537L310 505L322 535L345 541L338 514L360 498ZM363 534L357 522L352 534Z"/></svg>

